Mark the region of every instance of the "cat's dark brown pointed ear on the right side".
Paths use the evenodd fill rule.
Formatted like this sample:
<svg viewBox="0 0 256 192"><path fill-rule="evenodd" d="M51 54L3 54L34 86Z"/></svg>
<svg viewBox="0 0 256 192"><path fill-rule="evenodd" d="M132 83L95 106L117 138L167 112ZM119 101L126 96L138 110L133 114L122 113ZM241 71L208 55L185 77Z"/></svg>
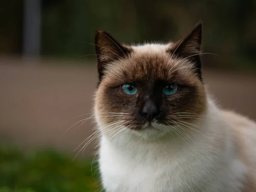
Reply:
<svg viewBox="0 0 256 192"><path fill-rule="evenodd" d="M187 58L195 63L195 70L201 79L201 38L202 38L202 22L198 22L195 28L185 38L177 41L167 52L177 57Z"/></svg>

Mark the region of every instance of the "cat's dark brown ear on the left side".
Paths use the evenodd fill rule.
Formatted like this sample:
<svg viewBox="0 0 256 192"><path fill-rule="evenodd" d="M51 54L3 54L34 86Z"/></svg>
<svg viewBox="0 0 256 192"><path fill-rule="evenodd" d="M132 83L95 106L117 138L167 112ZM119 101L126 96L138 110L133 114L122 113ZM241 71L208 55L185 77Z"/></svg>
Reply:
<svg viewBox="0 0 256 192"><path fill-rule="evenodd" d="M97 30L94 42L98 60L99 81L101 81L107 64L129 55L132 52L132 48L119 44L106 31Z"/></svg>

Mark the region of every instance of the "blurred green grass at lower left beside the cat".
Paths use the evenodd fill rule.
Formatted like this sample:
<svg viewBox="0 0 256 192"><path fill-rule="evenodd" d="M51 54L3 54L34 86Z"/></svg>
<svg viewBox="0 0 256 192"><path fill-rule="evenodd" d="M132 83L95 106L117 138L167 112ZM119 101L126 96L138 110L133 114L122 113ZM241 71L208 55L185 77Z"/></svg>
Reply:
<svg viewBox="0 0 256 192"><path fill-rule="evenodd" d="M55 151L23 154L0 148L0 192L94 192L99 177L92 160L75 160ZM96 164L96 163L95 163Z"/></svg>

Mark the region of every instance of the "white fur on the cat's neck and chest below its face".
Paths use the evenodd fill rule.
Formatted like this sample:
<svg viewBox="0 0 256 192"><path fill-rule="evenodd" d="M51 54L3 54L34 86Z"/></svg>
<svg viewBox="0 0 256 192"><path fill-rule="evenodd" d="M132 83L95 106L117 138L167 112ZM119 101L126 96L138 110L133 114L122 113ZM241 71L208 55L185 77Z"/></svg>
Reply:
<svg viewBox="0 0 256 192"><path fill-rule="evenodd" d="M130 130L101 138L102 183L107 192L240 192L246 167L237 158L229 125L208 101L207 120L192 141L140 140ZM98 123L101 126L99 119Z"/></svg>

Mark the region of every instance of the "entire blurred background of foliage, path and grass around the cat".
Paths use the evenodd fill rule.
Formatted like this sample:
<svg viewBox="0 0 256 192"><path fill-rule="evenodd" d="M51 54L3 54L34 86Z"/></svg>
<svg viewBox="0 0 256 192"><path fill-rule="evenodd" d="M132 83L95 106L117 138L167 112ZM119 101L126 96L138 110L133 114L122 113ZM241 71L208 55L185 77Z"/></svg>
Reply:
<svg viewBox="0 0 256 192"><path fill-rule="evenodd" d="M219 55L201 57L209 92L256 120L255 0L1 0L0 192L98 190L97 143L84 157L79 146L95 127L79 122L93 107L95 30L168 42L199 20L204 52Z"/></svg>

